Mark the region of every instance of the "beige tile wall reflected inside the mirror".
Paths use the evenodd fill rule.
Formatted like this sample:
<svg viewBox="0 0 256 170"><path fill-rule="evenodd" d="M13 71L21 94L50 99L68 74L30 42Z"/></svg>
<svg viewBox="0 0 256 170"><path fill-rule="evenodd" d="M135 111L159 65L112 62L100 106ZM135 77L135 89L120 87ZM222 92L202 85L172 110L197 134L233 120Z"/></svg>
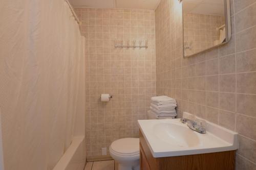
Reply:
<svg viewBox="0 0 256 170"><path fill-rule="evenodd" d="M214 41L220 39L220 31L216 30L225 24L222 16L203 14L183 14L183 31L185 56L196 54L214 46Z"/></svg>

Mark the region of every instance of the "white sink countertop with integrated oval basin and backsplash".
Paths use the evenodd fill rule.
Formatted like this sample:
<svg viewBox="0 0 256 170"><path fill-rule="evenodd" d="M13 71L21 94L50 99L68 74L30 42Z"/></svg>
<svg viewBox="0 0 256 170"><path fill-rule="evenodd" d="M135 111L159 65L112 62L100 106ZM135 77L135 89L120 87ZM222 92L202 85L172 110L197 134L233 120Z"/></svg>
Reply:
<svg viewBox="0 0 256 170"><path fill-rule="evenodd" d="M207 121L206 134L191 130L180 119L138 120L138 123L155 158L238 149L236 132Z"/></svg>

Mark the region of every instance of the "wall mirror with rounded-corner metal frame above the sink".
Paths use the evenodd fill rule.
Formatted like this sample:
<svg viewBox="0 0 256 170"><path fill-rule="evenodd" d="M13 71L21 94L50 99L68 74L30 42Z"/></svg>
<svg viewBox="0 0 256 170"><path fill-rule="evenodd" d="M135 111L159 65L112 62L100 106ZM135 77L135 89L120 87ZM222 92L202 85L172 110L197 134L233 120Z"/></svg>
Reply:
<svg viewBox="0 0 256 170"><path fill-rule="evenodd" d="M182 6L184 57L230 40L229 0L183 0Z"/></svg>

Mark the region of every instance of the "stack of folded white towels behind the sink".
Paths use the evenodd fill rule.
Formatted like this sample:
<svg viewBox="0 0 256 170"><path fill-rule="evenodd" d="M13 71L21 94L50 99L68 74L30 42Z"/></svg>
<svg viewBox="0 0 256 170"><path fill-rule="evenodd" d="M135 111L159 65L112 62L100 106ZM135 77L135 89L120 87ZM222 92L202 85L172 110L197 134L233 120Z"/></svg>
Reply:
<svg viewBox="0 0 256 170"><path fill-rule="evenodd" d="M159 118L174 118L177 116L175 108L177 107L176 100L169 98L166 95L155 96L151 98L151 111Z"/></svg>

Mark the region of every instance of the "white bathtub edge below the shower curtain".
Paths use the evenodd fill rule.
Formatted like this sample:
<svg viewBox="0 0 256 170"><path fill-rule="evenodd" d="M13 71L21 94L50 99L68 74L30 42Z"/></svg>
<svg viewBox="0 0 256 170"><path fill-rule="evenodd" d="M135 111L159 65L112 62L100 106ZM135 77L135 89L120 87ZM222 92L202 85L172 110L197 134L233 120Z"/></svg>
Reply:
<svg viewBox="0 0 256 170"><path fill-rule="evenodd" d="M53 170L83 170L86 165L84 136L76 136Z"/></svg>

